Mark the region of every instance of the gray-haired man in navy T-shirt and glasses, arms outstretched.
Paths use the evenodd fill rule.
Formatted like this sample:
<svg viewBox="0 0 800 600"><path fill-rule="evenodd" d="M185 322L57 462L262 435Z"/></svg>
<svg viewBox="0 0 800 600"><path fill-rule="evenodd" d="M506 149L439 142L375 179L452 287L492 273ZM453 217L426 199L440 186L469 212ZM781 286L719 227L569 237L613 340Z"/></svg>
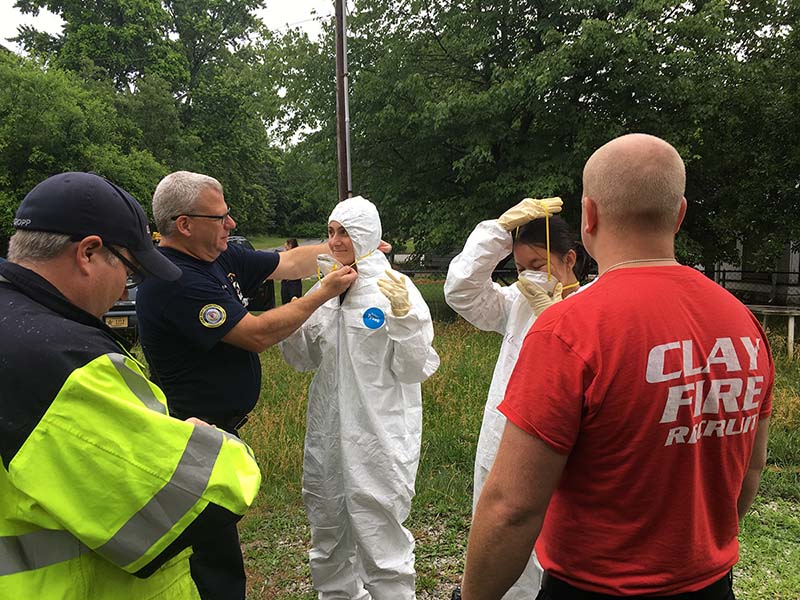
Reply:
<svg viewBox="0 0 800 600"><path fill-rule="evenodd" d="M178 171L153 195L159 249L183 275L175 282L145 281L136 296L142 348L151 376L167 396L170 414L197 417L236 433L261 389L258 352L294 332L358 274L345 267L294 302L260 315L246 298L265 279L299 279L316 272L328 244L282 252L228 246L236 227L222 185L213 177ZM195 544L192 576L203 600L245 597L245 574L234 525L228 535Z"/></svg>

